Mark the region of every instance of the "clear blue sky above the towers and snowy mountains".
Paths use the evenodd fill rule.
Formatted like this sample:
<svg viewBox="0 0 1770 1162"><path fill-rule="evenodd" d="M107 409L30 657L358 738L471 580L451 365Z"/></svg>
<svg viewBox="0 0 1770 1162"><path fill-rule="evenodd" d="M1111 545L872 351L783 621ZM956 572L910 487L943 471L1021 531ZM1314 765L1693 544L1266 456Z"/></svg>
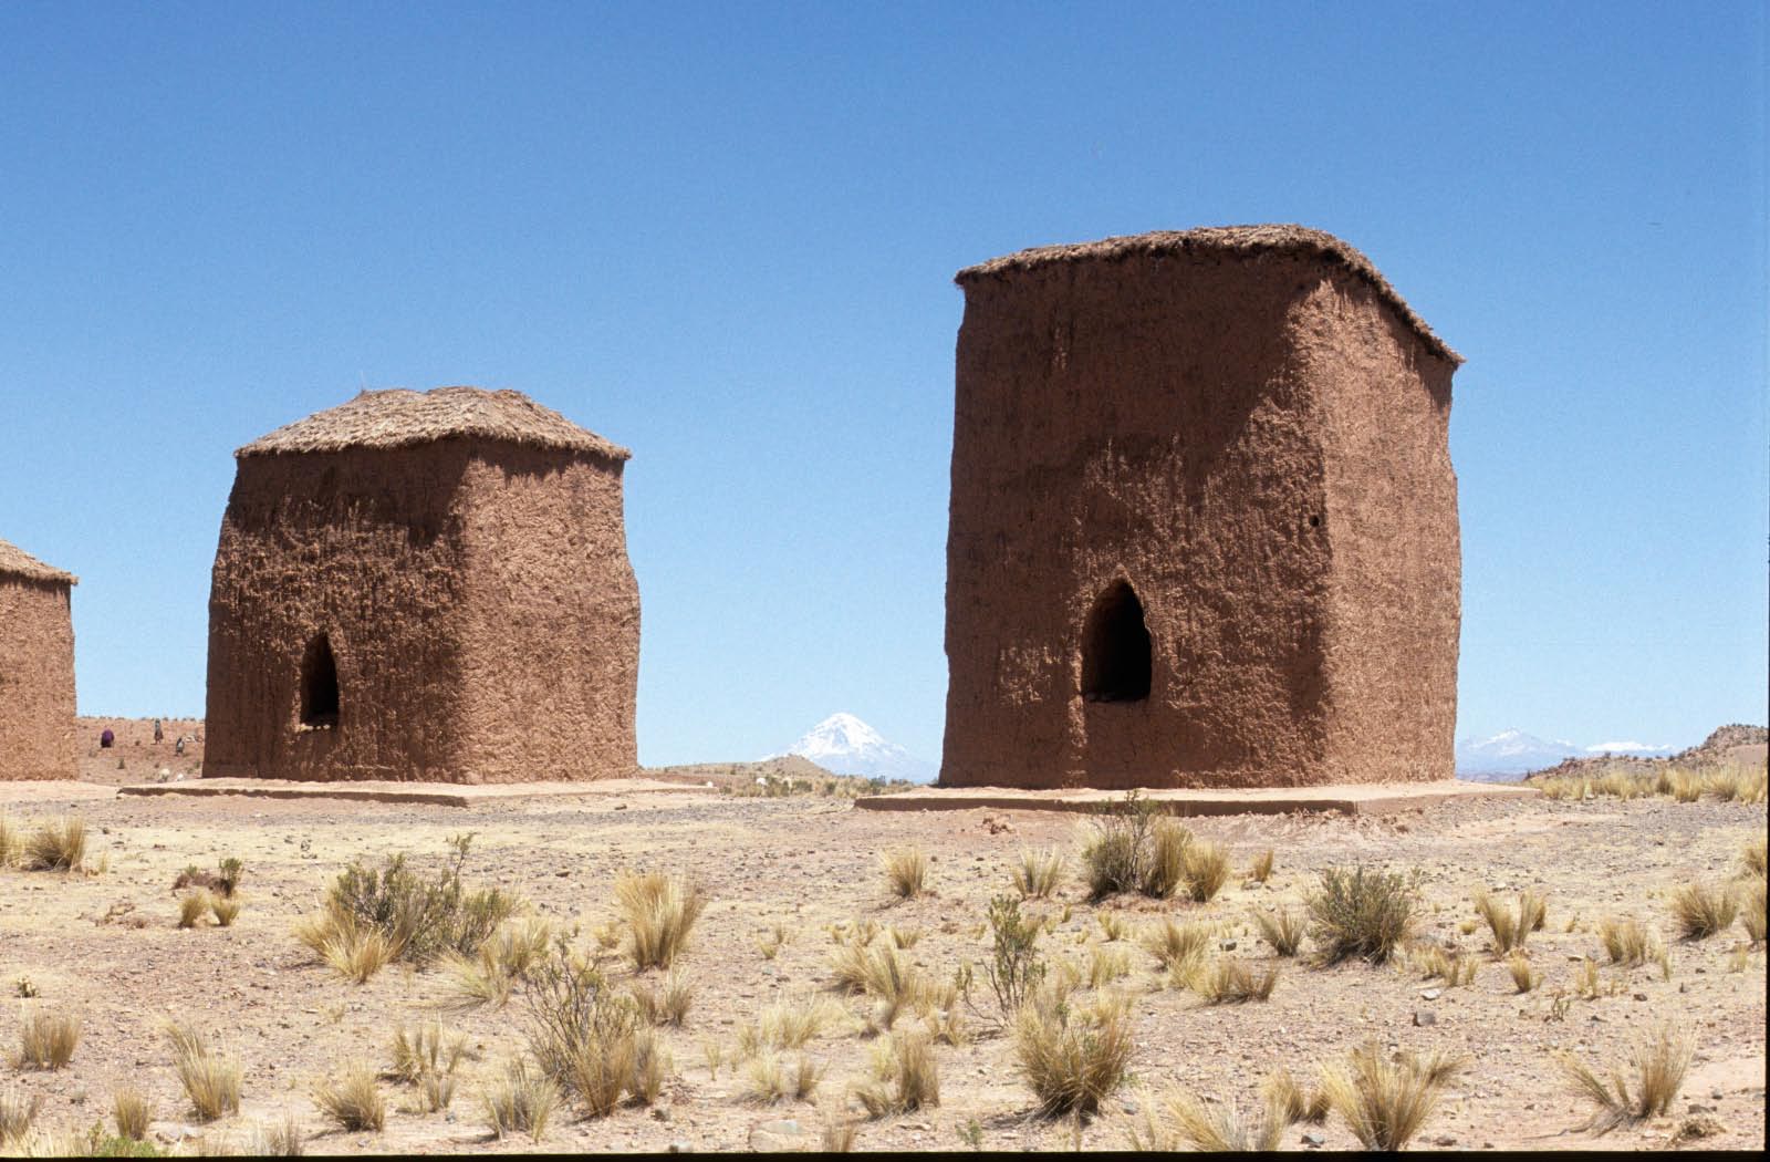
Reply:
<svg viewBox="0 0 1770 1162"><path fill-rule="evenodd" d="M1765 719L1761 4L0 4L0 537L200 714L232 450L361 386L634 448L641 760L940 755L961 266L1301 221L1469 363L1458 735Z"/></svg>

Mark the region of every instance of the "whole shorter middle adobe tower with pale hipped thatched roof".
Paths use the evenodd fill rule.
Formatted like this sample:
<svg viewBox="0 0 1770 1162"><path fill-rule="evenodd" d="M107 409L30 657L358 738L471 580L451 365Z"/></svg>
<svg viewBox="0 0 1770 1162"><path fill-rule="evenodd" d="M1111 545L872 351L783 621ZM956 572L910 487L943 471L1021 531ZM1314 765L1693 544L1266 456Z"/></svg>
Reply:
<svg viewBox="0 0 1770 1162"><path fill-rule="evenodd" d="M632 774L628 455L480 388L363 391L241 448L204 774Z"/></svg>

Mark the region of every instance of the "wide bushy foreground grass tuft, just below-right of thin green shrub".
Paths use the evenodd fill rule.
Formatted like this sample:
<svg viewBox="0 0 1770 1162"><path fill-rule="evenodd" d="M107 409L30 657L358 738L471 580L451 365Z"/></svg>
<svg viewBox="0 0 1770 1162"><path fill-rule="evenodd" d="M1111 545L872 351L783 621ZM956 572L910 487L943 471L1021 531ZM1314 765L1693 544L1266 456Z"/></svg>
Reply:
<svg viewBox="0 0 1770 1162"><path fill-rule="evenodd" d="M1126 1077L1135 1045L1129 1004L1032 1003L1014 1020L1014 1056L1046 1116L1094 1114Z"/></svg>

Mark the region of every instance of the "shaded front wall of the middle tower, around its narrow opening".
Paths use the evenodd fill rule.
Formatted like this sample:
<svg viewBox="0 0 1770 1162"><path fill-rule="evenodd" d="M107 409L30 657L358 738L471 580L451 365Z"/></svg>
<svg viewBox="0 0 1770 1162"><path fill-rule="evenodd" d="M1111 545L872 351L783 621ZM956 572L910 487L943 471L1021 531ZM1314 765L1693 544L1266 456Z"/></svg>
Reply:
<svg viewBox="0 0 1770 1162"><path fill-rule="evenodd" d="M466 466L458 441L239 461L209 595L205 776L458 778ZM299 721L322 632L331 730Z"/></svg>

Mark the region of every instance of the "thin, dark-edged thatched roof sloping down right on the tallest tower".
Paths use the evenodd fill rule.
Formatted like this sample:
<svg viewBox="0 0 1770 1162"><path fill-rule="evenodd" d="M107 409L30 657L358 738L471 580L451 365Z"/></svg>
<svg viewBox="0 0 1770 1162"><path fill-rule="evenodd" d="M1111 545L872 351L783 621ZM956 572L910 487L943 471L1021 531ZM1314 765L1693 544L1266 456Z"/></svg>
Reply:
<svg viewBox="0 0 1770 1162"><path fill-rule="evenodd" d="M1000 259L991 259L977 266L968 266L954 276L961 287L982 278L1004 278L1014 271L1048 266L1053 262L1104 260L1113 262L1131 255L1163 253L1257 253L1278 250L1299 255L1315 255L1329 262L1340 262L1354 275L1368 282L1409 328L1425 340L1435 354L1462 363L1462 356L1439 338L1425 319L1414 314L1407 301L1395 292L1389 280L1372 266L1370 259L1354 246L1340 241L1324 230L1312 230L1296 223L1266 223L1251 227L1198 227L1195 230L1156 230L1152 234L1129 234L1124 237L1103 237L1097 243L1074 243L1067 246L1034 246Z"/></svg>

